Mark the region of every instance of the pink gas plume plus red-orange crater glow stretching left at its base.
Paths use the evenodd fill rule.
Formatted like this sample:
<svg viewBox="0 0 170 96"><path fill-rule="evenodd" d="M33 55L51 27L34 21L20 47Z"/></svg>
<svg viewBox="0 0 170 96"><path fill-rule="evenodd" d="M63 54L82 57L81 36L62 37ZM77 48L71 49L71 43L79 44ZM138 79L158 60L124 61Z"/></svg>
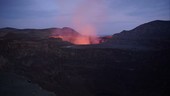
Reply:
<svg viewBox="0 0 170 96"><path fill-rule="evenodd" d="M62 2L66 3L66 2ZM96 35L96 21L102 20L103 5L101 0L82 0L75 7L72 12L71 25L81 35L74 36L60 36L65 41L69 41L74 44L98 44L100 38Z"/></svg>

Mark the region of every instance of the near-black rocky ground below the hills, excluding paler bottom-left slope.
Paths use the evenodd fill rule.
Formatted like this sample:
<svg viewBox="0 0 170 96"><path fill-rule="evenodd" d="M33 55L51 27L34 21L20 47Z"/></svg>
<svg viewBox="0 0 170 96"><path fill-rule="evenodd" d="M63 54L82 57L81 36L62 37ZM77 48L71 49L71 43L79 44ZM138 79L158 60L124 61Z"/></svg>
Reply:
<svg viewBox="0 0 170 96"><path fill-rule="evenodd" d="M0 53L0 72L27 77L56 96L168 96L169 92L169 50L13 47L10 42Z"/></svg>

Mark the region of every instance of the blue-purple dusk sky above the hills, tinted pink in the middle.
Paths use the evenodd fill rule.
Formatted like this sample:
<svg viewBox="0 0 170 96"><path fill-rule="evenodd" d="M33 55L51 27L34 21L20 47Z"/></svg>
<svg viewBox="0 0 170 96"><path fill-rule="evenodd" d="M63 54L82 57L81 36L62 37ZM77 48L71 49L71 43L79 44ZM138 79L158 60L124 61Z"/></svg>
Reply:
<svg viewBox="0 0 170 96"><path fill-rule="evenodd" d="M1 28L84 27L107 35L153 20L170 20L170 0L0 0Z"/></svg>

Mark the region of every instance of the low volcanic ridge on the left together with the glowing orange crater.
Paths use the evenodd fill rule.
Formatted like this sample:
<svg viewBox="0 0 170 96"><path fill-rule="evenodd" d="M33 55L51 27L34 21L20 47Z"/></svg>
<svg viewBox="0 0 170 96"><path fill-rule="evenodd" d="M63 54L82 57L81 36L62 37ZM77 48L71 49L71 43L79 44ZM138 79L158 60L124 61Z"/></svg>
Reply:
<svg viewBox="0 0 170 96"><path fill-rule="evenodd" d="M7 27L0 29L0 37L1 39L8 40L43 40L56 38L75 45L99 44L110 38L109 36L82 35L69 27L47 29L15 29Z"/></svg>

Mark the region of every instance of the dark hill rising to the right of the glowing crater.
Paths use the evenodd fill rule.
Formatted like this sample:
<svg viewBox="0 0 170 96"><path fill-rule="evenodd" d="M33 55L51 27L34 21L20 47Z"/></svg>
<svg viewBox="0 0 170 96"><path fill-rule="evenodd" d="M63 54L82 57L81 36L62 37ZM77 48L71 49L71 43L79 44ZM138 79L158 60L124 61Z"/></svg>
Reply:
<svg viewBox="0 0 170 96"><path fill-rule="evenodd" d="M170 21L156 20L132 30L114 34L98 47L119 49L168 49L170 48Z"/></svg>

